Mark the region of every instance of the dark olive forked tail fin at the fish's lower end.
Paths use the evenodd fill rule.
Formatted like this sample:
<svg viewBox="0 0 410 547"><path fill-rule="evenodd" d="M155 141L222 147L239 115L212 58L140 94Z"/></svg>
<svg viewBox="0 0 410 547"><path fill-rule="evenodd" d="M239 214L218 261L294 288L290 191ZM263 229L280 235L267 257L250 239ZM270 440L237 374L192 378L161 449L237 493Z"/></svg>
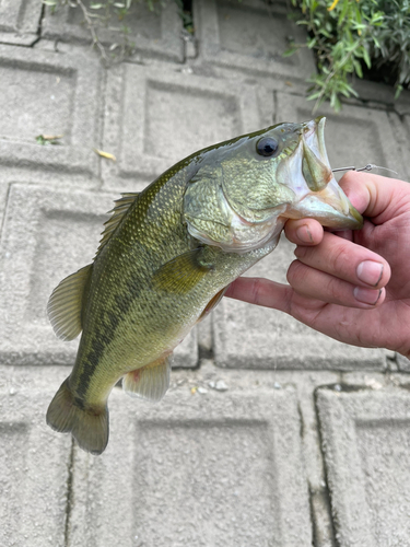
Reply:
<svg viewBox="0 0 410 547"><path fill-rule="evenodd" d="M108 443L108 408L86 408L74 399L65 380L47 410L47 423L55 431L71 432L79 446L91 454L104 452Z"/></svg>

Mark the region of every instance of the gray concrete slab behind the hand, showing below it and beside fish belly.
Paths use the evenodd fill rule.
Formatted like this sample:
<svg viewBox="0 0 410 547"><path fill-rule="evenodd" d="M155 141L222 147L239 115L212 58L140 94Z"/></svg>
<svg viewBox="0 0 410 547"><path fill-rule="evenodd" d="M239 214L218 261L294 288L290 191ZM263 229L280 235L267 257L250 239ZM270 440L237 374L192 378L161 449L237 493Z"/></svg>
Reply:
<svg viewBox="0 0 410 547"><path fill-rule="evenodd" d="M246 272L286 283L294 245L282 235L278 247ZM379 349L356 348L317 333L293 317L224 298L213 312L218 366L241 369L383 370Z"/></svg>

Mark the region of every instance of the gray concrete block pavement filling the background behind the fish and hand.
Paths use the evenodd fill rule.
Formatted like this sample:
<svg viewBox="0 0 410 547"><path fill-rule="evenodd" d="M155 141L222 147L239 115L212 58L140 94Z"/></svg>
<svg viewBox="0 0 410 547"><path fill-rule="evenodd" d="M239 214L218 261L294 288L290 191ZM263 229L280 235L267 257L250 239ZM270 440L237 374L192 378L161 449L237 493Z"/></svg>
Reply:
<svg viewBox="0 0 410 547"><path fill-rule="evenodd" d="M301 33L285 2L192 8L187 42L173 2L137 4L136 53L106 70L78 11L0 2L0 546L410 546L410 362L279 312L224 299L163 401L114 389L102 456L45 423L78 345L52 334L48 295L92 259L113 199L208 144L312 117L314 59L282 57ZM409 94L360 83L340 115L321 108L332 165L409 179ZM282 241L249 275L283 281L291 260Z"/></svg>

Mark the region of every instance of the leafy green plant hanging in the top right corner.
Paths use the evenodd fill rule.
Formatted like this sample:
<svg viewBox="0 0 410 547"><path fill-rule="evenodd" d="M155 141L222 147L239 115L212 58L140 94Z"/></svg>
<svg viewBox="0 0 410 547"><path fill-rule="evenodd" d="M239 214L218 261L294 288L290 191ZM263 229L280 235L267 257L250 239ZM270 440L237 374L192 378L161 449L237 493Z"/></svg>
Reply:
<svg viewBox="0 0 410 547"><path fill-rule="evenodd" d="M356 95L353 77L363 78L385 67L388 83L399 93L410 81L409 0L292 0L308 31L306 44L292 44L285 55L301 47L316 54L318 72L309 82L308 100L315 109L330 100L341 108L340 97ZM391 75L395 81L391 82Z"/></svg>

